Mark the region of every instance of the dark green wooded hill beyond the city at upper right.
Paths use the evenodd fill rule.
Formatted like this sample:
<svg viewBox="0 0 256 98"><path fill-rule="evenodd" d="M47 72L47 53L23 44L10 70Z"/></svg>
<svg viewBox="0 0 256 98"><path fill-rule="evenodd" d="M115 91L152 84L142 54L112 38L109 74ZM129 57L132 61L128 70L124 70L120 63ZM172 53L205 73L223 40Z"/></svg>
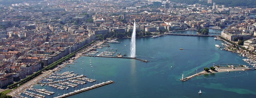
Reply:
<svg viewBox="0 0 256 98"><path fill-rule="evenodd" d="M176 3L186 3L186 4L204 4L204 5L212 5L207 4L207 0L204 2L199 0L170 0ZM256 0L212 0L212 3L216 3L216 5L225 5L226 7L249 7L256 8Z"/></svg>

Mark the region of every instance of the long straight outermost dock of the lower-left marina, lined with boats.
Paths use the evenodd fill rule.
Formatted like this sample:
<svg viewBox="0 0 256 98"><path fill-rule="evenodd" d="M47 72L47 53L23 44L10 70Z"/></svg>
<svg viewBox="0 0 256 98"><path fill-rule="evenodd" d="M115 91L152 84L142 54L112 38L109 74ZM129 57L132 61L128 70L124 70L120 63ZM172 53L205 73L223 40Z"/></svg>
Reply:
<svg viewBox="0 0 256 98"><path fill-rule="evenodd" d="M57 96L57 97L53 97L53 98L64 98L64 97L72 96L72 95L75 95L75 94L78 94L78 93L82 93L82 92L85 92L85 91L88 91L88 90L92 90L94 88L105 86L105 85L111 84L111 83L114 83L114 81L110 80L110 81L107 81L107 82L102 82L102 83L95 84L95 85L90 86L90 87L82 88L80 90L75 90L74 92L70 92L70 93L63 94L63 95L60 95L60 96Z"/></svg>

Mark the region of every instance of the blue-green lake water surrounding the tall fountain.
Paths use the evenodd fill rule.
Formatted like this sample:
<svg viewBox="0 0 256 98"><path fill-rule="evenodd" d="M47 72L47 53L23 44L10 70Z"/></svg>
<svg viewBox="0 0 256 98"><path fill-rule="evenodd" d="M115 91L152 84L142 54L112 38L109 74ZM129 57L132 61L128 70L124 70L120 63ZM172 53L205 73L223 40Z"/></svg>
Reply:
<svg viewBox="0 0 256 98"><path fill-rule="evenodd" d="M120 43L110 44L109 48L118 49L117 53L126 53L130 56L130 39L117 41ZM76 60L75 65L65 67L60 73L74 71L86 75L87 78L96 79L95 83L108 80L115 82L69 98L255 97L256 71L229 72L228 75L222 72L200 75L185 82L179 80L182 74L184 77L193 75L196 73L196 68L200 72L213 63L248 65L242 60L245 59L244 57L215 47L215 44L221 43L224 42L214 40L213 37L167 35L158 38L136 38L136 57L147 60L148 63L134 59L83 56ZM97 50L103 51L105 48ZM89 60L92 60L93 67L90 67ZM52 98L57 94L69 93L95 83L79 85L79 88L70 87L68 90L40 85L35 85L34 88L55 91L55 94L46 97ZM199 95L200 89L202 94Z"/></svg>

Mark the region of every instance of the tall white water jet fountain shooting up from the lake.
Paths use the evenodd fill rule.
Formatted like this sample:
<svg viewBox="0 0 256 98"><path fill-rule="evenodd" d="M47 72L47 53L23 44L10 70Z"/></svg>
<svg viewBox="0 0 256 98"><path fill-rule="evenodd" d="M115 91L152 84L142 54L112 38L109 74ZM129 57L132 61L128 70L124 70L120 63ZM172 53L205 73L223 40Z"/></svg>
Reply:
<svg viewBox="0 0 256 98"><path fill-rule="evenodd" d="M131 57L135 57L136 52L136 23L134 21L133 34L131 35Z"/></svg>

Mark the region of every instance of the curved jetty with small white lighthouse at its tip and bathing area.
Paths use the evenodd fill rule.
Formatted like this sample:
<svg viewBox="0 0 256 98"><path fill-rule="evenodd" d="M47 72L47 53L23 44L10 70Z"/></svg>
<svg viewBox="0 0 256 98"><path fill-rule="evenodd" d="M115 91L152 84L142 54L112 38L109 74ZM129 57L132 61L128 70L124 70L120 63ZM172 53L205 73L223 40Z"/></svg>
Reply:
<svg viewBox="0 0 256 98"><path fill-rule="evenodd" d="M227 65L226 67L229 67L229 69L225 68L225 67L218 67L219 65ZM191 75L191 76L188 76L186 78L183 78L183 75L182 75L182 79L180 79L181 81L186 81L186 80L189 80L195 76L198 76L198 75L202 75L202 74L208 74L208 73L217 73L217 72L230 72L230 71L245 71L245 70L251 70L251 69L255 69L255 68L249 68L247 67L246 65L241 65L241 64L237 64L237 67L243 67L243 68L236 68L234 67L233 65L229 66L231 64L217 64L217 65L214 65L214 68L216 68L216 70L212 71L212 70L209 70L209 71L201 71L199 73L196 73L194 75ZM238 66L239 65L239 66ZM225 68L225 69L221 69L221 68Z"/></svg>

